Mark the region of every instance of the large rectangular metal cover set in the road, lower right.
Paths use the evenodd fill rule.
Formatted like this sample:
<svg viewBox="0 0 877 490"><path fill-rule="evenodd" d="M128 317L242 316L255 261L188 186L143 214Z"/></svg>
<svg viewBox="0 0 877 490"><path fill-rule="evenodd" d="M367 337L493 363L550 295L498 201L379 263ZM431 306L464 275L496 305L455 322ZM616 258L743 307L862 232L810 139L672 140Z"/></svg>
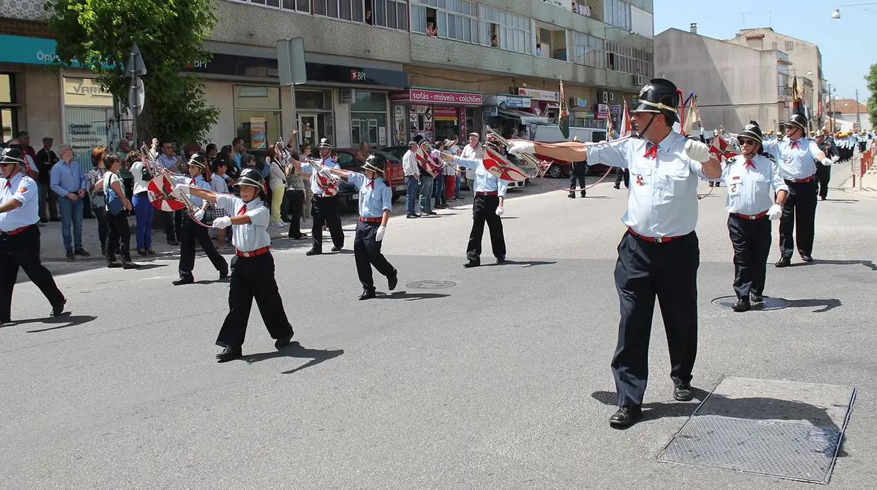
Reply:
<svg viewBox="0 0 877 490"><path fill-rule="evenodd" d="M727 416L692 416L659 461L828 483L841 430Z"/></svg>

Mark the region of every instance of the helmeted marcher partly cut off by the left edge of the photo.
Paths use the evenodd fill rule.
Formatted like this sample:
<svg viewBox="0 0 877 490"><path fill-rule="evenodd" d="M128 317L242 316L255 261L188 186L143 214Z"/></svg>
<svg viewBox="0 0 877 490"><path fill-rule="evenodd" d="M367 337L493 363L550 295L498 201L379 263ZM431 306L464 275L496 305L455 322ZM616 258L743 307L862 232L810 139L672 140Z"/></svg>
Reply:
<svg viewBox="0 0 877 490"><path fill-rule="evenodd" d="M67 303L52 273L39 262L39 185L25 172L24 152L7 148L0 153L0 324L11 321L19 267L49 300L53 317Z"/></svg>

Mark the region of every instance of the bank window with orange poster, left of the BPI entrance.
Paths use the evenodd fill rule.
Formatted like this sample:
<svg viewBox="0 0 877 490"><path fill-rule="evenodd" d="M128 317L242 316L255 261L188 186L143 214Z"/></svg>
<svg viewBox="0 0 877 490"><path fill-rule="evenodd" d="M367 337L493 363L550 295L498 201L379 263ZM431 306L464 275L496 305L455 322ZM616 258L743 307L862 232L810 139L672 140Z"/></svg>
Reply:
<svg viewBox="0 0 877 490"><path fill-rule="evenodd" d="M296 98L297 100L297 98ZM234 87L235 134L250 150L266 150L281 137L280 88Z"/></svg>

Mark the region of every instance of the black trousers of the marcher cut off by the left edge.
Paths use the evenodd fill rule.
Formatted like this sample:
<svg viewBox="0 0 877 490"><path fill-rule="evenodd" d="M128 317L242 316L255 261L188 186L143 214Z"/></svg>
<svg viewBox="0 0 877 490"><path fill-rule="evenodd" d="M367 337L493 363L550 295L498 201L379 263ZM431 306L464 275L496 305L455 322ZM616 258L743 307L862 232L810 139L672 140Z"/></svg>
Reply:
<svg viewBox="0 0 877 490"><path fill-rule="evenodd" d="M34 225L16 235L0 233L0 321L11 319L12 289L19 267L25 269L25 274L42 291L49 304L64 301L52 273L39 262L39 227Z"/></svg>

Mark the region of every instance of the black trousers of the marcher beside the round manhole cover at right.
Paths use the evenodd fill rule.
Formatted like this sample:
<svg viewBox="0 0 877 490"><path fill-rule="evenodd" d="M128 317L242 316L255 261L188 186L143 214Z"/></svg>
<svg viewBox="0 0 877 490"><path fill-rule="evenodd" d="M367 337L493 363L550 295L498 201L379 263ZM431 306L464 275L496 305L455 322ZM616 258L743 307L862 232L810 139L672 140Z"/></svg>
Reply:
<svg viewBox="0 0 877 490"><path fill-rule="evenodd" d="M734 248L734 291L737 297L763 294L767 274L767 254L770 253L770 220L757 220L728 214L728 234Z"/></svg>

